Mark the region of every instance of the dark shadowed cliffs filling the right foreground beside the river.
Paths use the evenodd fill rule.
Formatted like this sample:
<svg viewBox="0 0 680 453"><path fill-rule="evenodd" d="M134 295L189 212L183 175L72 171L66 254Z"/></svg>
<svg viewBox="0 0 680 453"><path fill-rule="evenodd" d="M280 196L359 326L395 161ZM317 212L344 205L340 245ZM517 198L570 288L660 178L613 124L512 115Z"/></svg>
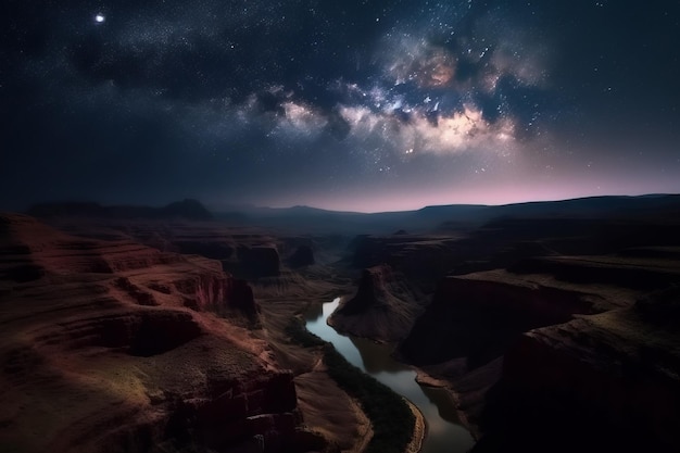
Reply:
<svg viewBox="0 0 680 453"><path fill-rule="evenodd" d="M399 351L448 379L475 452L677 451L680 292L644 294L680 281L679 256L638 248L448 277Z"/></svg>

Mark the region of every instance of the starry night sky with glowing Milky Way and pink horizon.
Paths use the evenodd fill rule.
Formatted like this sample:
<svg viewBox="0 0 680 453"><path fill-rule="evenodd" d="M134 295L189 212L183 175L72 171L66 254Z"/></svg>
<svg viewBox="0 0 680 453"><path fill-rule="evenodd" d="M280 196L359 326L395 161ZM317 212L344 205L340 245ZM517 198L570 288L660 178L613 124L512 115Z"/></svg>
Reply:
<svg viewBox="0 0 680 453"><path fill-rule="evenodd" d="M4 0L0 209L680 192L680 2Z"/></svg>

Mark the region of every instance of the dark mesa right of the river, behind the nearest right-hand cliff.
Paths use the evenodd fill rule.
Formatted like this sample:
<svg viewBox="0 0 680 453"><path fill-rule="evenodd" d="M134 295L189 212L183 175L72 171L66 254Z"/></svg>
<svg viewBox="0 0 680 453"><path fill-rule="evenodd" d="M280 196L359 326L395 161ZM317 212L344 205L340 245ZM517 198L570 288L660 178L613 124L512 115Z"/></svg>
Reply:
<svg viewBox="0 0 680 453"><path fill-rule="evenodd" d="M465 357L470 368L503 354L531 328L609 305L600 294L504 270L444 278L400 353L418 365Z"/></svg>

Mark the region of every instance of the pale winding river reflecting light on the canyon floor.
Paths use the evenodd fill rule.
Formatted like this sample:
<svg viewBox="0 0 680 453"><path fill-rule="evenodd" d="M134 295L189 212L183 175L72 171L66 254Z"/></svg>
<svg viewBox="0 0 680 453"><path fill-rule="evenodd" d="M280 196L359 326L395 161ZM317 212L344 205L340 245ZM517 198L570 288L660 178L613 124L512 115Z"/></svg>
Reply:
<svg viewBox="0 0 680 453"><path fill-rule="evenodd" d="M463 453L475 443L470 433L461 425L453 403L444 390L423 387L415 381L416 373L390 356L391 348L370 340L344 337L326 324L328 316L338 307L340 298L325 303L320 310L306 313L307 330L330 341L352 365L378 379L396 393L413 402L427 421L427 437L423 453Z"/></svg>

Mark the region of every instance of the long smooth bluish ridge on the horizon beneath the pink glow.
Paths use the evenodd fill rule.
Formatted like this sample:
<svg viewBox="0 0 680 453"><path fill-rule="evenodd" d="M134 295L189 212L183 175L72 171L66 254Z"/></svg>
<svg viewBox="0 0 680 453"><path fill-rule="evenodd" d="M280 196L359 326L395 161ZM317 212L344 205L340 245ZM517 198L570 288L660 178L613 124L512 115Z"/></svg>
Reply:
<svg viewBox="0 0 680 453"><path fill-rule="evenodd" d="M237 215L238 214L238 215ZM237 225L256 225L295 232L390 235L393 231L446 232L470 230L507 219L632 218L680 215L680 196L608 196L505 205L450 204L417 211L356 213L310 206L252 207L218 213Z"/></svg>

